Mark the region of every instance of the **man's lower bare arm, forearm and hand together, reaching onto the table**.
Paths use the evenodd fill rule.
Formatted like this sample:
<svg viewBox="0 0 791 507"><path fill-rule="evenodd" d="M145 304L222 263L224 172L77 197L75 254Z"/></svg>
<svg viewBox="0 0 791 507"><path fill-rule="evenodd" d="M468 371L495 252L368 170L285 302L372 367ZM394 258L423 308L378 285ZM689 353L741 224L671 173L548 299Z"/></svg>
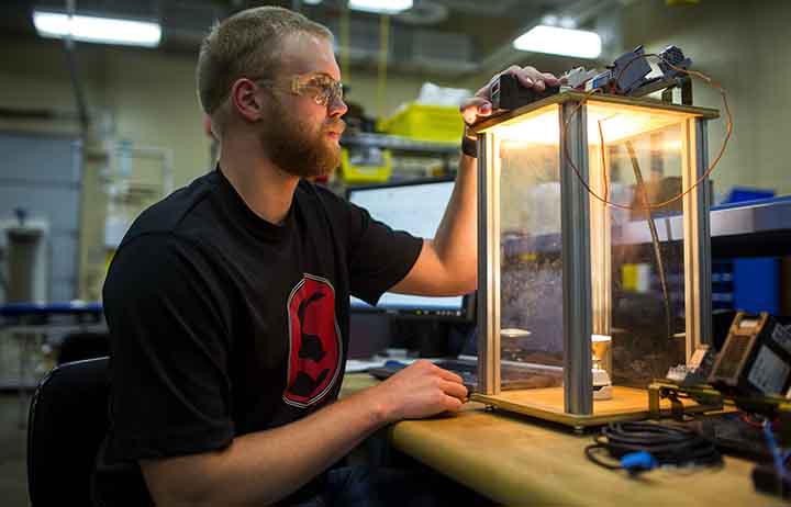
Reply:
<svg viewBox="0 0 791 507"><path fill-rule="evenodd" d="M461 378L417 361L374 387L218 451L141 460L157 505L269 505L303 486L388 422L458 410Z"/></svg>

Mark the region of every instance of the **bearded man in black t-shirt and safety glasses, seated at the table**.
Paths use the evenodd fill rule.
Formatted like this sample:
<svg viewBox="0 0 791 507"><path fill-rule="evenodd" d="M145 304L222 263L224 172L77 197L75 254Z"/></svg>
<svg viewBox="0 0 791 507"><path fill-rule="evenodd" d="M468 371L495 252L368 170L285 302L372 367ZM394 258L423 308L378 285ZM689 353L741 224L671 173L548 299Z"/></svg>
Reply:
<svg viewBox="0 0 791 507"><path fill-rule="evenodd" d="M460 378L417 362L335 401L349 293L464 294L477 274L471 156L433 240L304 180L338 165L339 80L330 32L285 9L241 12L204 41L198 92L218 168L137 218L104 285L112 422L98 504L305 502L377 429L466 399ZM491 113L488 97L463 106L468 123Z"/></svg>

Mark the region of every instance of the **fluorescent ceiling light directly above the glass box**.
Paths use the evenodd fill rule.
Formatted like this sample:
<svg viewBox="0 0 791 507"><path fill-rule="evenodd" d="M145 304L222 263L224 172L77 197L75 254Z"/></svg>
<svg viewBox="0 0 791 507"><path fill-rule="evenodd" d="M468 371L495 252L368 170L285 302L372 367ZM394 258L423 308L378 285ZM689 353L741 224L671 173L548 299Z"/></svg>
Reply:
<svg viewBox="0 0 791 507"><path fill-rule="evenodd" d="M601 37L598 33L559 26L535 26L520 35L513 46L523 52L580 58L598 58L601 55Z"/></svg>

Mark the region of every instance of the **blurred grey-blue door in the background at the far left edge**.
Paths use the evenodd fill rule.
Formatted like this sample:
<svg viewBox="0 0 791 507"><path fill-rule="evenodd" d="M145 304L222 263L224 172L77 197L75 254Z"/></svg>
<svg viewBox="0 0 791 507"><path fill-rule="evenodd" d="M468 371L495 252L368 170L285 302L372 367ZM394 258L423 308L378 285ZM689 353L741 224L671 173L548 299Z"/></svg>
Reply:
<svg viewBox="0 0 791 507"><path fill-rule="evenodd" d="M4 295L4 301L75 298L80 143L74 137L0 132L0 241L7 249L5 278L14 291Z"/></svg>

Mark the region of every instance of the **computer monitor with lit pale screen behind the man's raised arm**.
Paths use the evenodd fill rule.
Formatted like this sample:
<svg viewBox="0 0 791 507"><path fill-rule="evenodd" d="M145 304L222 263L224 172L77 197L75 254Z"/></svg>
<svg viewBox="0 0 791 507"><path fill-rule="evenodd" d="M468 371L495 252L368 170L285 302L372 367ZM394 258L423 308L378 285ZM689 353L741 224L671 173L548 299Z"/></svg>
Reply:
<svg viewBox="0 0 791 507"><path fill-rule="evenodd" d="M393 229L433 238L453 192L453 179L431 179L381 185L355 187L348 200ZM383 311L403 316L469 320L469 296L430 297L386 292L375 307L352 296L353 311Z"/></svg>

